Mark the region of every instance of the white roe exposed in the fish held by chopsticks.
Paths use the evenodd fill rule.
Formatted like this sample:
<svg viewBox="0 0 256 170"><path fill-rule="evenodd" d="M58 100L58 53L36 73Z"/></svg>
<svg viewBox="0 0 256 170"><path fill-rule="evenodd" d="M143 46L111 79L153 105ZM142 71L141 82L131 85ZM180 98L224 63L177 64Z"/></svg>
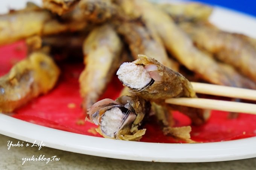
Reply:
<svg viewBox="0 0 256 170"><path fill-rule="evenodd" d="M143 88L151 81L146 69L134 63L123 63L120 65L116 75L123 84L133 89Z"/></svg>

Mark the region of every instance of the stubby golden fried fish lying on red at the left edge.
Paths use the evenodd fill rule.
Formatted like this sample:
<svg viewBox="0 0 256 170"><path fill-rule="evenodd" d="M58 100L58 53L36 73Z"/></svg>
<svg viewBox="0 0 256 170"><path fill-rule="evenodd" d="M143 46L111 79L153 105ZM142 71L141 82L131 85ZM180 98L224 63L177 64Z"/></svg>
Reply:
<svg viewBox="0 0 256 170"><path fill-rule="evenodd" d="M32 53L0 78L0 112L12 112L53 88L60 71L43 53Z"/></svg>

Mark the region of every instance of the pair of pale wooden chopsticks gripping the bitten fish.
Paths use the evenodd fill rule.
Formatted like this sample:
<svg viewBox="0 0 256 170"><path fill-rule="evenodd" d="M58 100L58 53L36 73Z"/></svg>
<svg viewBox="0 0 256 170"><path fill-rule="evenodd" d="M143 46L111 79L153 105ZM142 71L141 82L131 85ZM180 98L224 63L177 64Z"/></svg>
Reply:
<svg viewBox="0 0 256 170"><path fill-rule="evenodd" d="M192 82L196 93L256 101L256 90ZM166 103L195 108L256 114L256 104L203 98L171 98Z"/></svg>

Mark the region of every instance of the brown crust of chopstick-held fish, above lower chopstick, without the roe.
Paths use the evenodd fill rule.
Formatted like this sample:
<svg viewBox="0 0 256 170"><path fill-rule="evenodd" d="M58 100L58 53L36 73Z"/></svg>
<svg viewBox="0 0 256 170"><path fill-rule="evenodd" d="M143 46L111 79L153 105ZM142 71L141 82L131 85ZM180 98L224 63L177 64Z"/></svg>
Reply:
<svg viewBox="0 0 256 170"><path fill-rule="evenodd" d="M139 59L135 60L133 63L144 66L149 64L156 65L157 71L162 75L163 79L162 81L155 81L152 85L143 90L139 90L138 92L134 91L136 95L157 103L167 98L195 97L192 85L183 75L163 66L157 62L157 60L140 55Z"/></svg>

